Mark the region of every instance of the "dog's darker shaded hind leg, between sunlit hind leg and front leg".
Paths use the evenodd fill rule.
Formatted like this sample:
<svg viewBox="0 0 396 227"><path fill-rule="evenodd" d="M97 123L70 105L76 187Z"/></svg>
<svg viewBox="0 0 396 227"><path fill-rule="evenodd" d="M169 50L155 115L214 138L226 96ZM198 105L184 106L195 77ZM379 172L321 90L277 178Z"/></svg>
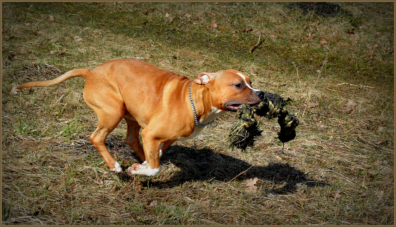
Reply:
<svg viewBox="0 0 396 227"><path fill-rule="evenodd" d="M124 117L128 125L125 142L131 147L133 152L144 162L146 160L142 144L139 140L141 126L134 120Z"/></svg>

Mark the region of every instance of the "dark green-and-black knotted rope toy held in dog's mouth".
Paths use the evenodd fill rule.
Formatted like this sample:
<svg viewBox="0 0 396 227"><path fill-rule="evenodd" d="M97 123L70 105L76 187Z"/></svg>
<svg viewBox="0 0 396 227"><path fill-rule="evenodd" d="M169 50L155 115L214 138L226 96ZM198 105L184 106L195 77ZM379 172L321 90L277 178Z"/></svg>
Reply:
<svg viewBox="0 0 396 227"><path fill-rule="evenodd" d="M298 118L283 108L286 101L278 94L265 92L265 99L254 106L242 104L236 111L238 121L228 133L228 141L232 150L237 149L246 150L246 148L253 147L257 137L261 135L262 130L259 130L260 123L254 117L265 116L268 119L278 117L278 124L280 125L280 132L278 132L278 139L282 143L286 143L295 138L295 128L299 124Z"/></svg>

